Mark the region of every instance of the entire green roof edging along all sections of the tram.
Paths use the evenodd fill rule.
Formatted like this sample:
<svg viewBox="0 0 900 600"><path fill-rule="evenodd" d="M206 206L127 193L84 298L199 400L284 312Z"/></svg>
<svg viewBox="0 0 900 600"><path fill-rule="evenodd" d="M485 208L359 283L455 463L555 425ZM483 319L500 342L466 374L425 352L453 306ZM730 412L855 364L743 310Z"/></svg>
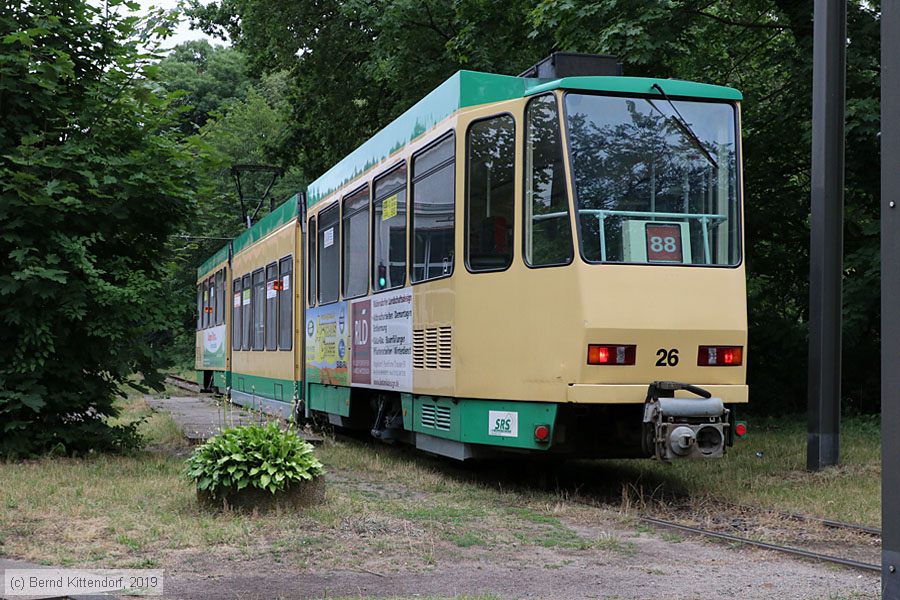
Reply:
<svg viewBox="0 0 900 600"><path fill-rule="evenodd" d="M743 98L741 93L733 88L678 79L582 76L546 80L477 71L457 71L309 184L306 190L307 206L313 206L330 196L463 108L525 98L557 89L658 96L660 94L653 88L654 84L661 86L666 94L672 97L725 101L739 101ZM242 232L233 242L234 252L240 252L294 218L297 214L297 202L297 196L291 197L253 227ZM226 245L197 269L198 278L209 273L227 257Z"/></svg>

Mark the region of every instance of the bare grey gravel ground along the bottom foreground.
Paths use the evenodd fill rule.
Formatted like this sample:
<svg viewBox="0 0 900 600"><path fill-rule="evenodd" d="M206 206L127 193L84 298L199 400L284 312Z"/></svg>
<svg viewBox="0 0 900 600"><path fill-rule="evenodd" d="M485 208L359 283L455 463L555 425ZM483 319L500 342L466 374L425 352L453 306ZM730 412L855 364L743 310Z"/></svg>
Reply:
<svg viewBox="0 0 900 600"><path fill-rule="evenodd" d="M579 519L581 520L581 519ZM435 565L384 573L297 570L262 560L223 563L183 556L167 571L172 598L878 598L877 576L794 560L780 554L695 539L637 534L615 519L569 522L583 535L613 534L633 551L606 553L526 547L473 552L463 559L436 551ZM375 562L373 560L373 562ZM366 563L363 563L364 565ZM383 566L383 564L381 565Z"/></svg>

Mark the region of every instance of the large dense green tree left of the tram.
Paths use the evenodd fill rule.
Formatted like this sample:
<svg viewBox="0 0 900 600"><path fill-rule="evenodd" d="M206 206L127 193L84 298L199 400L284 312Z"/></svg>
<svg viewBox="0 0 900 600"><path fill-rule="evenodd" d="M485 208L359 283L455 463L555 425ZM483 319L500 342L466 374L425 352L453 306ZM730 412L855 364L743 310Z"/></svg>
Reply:
<svg viewBox="0 0 900 600"><path fill-rule="evenodd" d="M150 81L167 16L108 5L0 13L0 455L133 446L113 398L162 383L196 158Z"/></svg>

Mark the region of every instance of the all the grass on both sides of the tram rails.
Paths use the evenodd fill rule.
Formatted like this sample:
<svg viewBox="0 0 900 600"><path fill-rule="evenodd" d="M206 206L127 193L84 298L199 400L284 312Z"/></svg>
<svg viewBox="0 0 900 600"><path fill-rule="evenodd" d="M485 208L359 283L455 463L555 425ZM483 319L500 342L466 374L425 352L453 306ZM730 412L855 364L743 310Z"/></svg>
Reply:
<svg viewBox="0 0 900 600"><path fill-rule="evenodd" d="M596 514L566 502L562 492L530 487L535 468L528 463L520 463L522 483L509 475L514 463L504 462L498 472L352 441L326 440L318 448L330 483L326 501L315 508L263 516L207 512L182 474L189 448L178 425L149 410L140 395L123 406L123 420L143 418L147 451L0 462L0 555L132 568L171 568L173 560L199 556L219 564L264 556L294 568L399 572L439 569L460 556L499 560L541 547L567 556L635 551L632 542L573 528L573 515L592 523ZM803 423L751 427L750 437L724 460L579 461L564 470L576 483L624 489L626 512L680 496L878 524L876 422L845 420L842 466L816 474L805 471Z"/></svg>

